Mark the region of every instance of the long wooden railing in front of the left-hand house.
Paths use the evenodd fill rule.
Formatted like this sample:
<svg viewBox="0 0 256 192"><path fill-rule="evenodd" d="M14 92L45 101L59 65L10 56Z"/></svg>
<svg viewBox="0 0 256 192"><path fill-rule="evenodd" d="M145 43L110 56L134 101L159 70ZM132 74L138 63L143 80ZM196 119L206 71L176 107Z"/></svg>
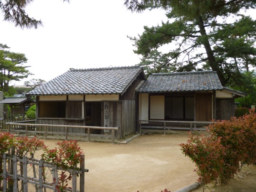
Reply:
<svg viewBox="0 0 256 192"><path fill-rule="evenodd" d="M47 138L47 134L58 134L58 135L65 135L66 140L68 139L68 135L79 135L79 136L87 136L87 141L90 142L90 136L102 136L102 137L111 137L112 138L112 143L115 143L115 131L118 130L118 127L96 127L96 126L81 126L81 125L52 125L52 124L32 124L32 123L13 123L13 122L8 122L6 123L8 125L8 132L23 132L27 136L28 133L39 133L39 134L44 134L44 138ZM20 126L25 126L25 130L17 130L17 129L12 129L14 125L20 125ZM35 126L35 130L28 130L29 126ZM44 131L37 131L36 128L38 126L44 127ZM47 131L47 127L62 127L65 128L65 132L52 132L52 131ZM80 128L80 129L87 129L87 133L70 133L68 128ZM100 134L91 134L90 129L107 129L107 130L112 130L111 135L100 135Z"/></svg>

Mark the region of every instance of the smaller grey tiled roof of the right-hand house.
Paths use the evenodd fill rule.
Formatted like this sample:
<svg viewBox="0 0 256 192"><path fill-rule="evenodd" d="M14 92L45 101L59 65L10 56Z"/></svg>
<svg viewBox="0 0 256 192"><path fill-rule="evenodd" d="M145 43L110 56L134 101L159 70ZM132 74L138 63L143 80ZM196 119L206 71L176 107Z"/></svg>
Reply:
<svg viewBox="0 0 256 192"><path fill-rule="evenodd" d="M148 77L139 92L222 90L215 71L158 73Z"/></svg>

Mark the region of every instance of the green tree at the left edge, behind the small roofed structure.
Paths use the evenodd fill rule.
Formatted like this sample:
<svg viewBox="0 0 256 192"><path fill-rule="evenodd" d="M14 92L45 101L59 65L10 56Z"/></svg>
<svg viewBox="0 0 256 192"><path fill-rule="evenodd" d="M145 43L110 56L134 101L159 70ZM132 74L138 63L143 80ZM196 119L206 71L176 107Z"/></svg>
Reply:
<svg viewBox="0 0 256 192"><path fill-rule="evenodd" d="M9 48L7 45L0 44L0 89L3 92L8 92L10 81L19 81L32 75L27 70L30 66L24 66L28 60L25 54L6 50Z"/></svg>

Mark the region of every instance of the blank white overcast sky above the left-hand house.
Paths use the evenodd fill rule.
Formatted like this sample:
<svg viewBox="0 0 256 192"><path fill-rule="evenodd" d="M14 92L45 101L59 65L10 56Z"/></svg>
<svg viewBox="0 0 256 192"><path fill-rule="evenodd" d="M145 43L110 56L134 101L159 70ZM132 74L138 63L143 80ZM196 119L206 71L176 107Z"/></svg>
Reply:
<svg viewBox="0 0 256 192"><path fill-rule="evenodd" d="M28 58L31 78L46 81L69 68L128 66L140 62L127 38L141 34L143 26L156 26L166 21L164 11L131 13L124 0L35 0L27 13L43 21L38 29L20 29L13 23L0 21L0 43L10 51ZM0 15L0 20L3 16ZM23 85L11 82L11 85Z"/></svg>

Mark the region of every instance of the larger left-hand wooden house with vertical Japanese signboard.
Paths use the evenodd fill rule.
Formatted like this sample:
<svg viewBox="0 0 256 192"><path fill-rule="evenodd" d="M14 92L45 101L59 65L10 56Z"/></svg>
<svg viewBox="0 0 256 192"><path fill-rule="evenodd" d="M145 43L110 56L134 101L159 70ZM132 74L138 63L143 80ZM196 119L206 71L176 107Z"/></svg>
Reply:
<svg viewBox="0 0 256 192"><path fill-rule="evenodd" d="M141 67L70 69L26 96L37 98L38 124L119 127L115 137L123 138L135 132L136 88L144 80ZM86 131L72 128L74 133ZM91 130L95 134L107 132Z"/></svg>

